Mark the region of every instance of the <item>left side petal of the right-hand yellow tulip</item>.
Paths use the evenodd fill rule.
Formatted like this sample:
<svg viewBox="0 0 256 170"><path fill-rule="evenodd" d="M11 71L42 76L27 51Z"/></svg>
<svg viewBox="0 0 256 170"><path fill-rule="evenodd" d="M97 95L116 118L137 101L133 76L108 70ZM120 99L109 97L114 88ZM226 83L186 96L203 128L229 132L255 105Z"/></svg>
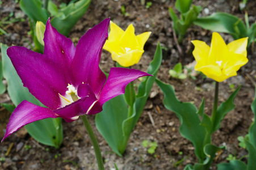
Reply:
<svg viewBox="0 0 256 170"><path fill-rule="evenodd" d="M197 65L200 65L199 67L205 66L208 60L210 47L204 41L194 40L191 42L195 46L192 54L195 57Z"/></svg>

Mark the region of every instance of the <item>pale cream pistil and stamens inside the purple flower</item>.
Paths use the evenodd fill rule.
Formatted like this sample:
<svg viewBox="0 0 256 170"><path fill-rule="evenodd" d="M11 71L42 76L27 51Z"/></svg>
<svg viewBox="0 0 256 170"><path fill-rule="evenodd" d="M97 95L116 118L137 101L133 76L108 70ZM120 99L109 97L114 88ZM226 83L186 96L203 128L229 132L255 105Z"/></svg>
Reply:
<svg viewBox="0 0 256 170"><path fill-rule="evenodd" d="M68 84L67 88L68 88L68 90L66 91L65 96L58 94L58 95L60 95L62 107L65 107L66 105L71 104L74 101L77 101L78 99L81 99L81 97L79 97L77 95L77 90L75 89L75 87L73 85Z"/></svg>

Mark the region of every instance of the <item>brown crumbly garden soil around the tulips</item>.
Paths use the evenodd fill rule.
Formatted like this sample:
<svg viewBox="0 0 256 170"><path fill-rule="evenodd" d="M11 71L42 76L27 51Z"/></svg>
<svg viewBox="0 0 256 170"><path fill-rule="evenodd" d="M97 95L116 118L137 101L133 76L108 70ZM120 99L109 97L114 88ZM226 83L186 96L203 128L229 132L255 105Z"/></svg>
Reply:
<svg viewBox="0 0 256 170"><path fill-rule="evenodd" d="M2 2L0 5L0 22L11 12L14 15L7 20L14 17L24 20L5 25L8 34L1 35L0 42L9 46L14 44L30 48L32 39L29 34L28 17L20 10L19 4L14 0L0 2ZM188 28L182 41L183 55L181 55L174 41L168 10L169 7L174 7L175 1L152 0L151 2L152 6L146 8L140 4L139 0L92 1L86 14L72 29L69 37L77 44L79 37L107 17L111 17L112 21L123 29L126 29L132 23L136 29L136 34L151 31L152 35L145 44L145 52L140 62L133 67L146 71L149 62L153 59L157 42L160 42L164 49L158 78L172 84L178 99L181 101L193 101L196 107L199 107L200 102L205 97L205 113L211 114L214 91L213 80L203 79L201 75L196 76L196 80L191 78L177 80L170 78L168 71L173 69L178 61L182 61L182 65L193 62L192 50L194 46L190 41L202 40L210 44L212 32L192 25ZM58 1L58 3L60 2ZM239 3L238 0L213 0L196 1L195 5L203 7L200 16L223 11L244 19L244 11L239 10ZM122 5L125 6L129 16L121 14ZM204 10L205 8L208 8L209 14L205 14L204 11L207 11ZM248 12L250 23L255 22L256 1L249 0L245 10ZM226 42L233 41L229 35L221 33L221 36L224 37ZM254 98L254 83L256 80L256 53L254 49L254 44L248 49L249 62L238 71L238 75L220 83L219 104L228 99L228 96L232 93L232 89L229 87L230 84L234 84L234 88L241 84L242 88L234 101L236 108L226 115L221 122L221 128L213 134L213 144L217 146L225 145L226 149L219 152L211 169L216 169L217 163L227 162L226 158L229 154L236 155L237 158L247 155L246 150L238 146L237 137L245 136L253 121L250 104ZM104 50L100 66L104 71L109 71L110 67L115 66L110 53ZM0 103L9 100L7 92L0 96ZM89 121L99 141L106 169L115 169L114 163L119 169L183 169L188 163L198 162L194 154L194 147L179 134L180 122L177 116L163 107L162 100L163 94L160 88L154 84L140 120L131 134L123 157L119 157L111 151L111 148L95 128L95 116L89 116ZM152 115L155 126L152 125L149 114ZM5 108L0 108L1 138L9 117L10 113ZM5 160L0 161L0 169L97 169L94 150L82 121L80 119L71 123L63 121L63 127L64 141L58 150L38 143L30 137L24 128L12 134L0 145L0 158L5 158ZM146 148L142 147L141 143L144 140L157 142L158 147L154 154L156 156L148 154ZM31 148L26 150L26 146L31 146ZM10 153L5 155L9 149ZM182 159L184 160L179 163Z"/></svg>

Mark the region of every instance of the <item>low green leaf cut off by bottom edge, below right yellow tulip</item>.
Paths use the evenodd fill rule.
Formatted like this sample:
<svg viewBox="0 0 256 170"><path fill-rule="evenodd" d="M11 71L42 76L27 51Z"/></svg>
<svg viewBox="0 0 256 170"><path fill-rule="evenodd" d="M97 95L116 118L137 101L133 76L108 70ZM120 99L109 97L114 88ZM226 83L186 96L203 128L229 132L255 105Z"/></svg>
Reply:
<svg viewBox="0 0 256 170"><path fill-rule="evenodd" d="M241 160L230 160L229 163L220 163L217 165L218 170L245 170L247 165ZM248 169L249 170L249 169Z"/></svg>

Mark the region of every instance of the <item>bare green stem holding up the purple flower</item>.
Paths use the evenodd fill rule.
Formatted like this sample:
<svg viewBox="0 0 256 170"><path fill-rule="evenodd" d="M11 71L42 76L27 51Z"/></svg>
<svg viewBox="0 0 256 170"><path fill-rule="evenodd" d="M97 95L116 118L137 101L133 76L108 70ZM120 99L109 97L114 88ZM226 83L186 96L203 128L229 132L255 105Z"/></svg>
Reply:
<svg viewBox="0 0 256 170"><path fill-rule="evenodd" d="M91 139L91 143L93 143L95 155L96 155L96 160L98 163L98 168L99 170L104 170L104 164L103 164L103 159L102 159L102 154L100 152L99 144L98 141L95 137L95 134L93 133L93 129L91 129L91 125L86 117L86 115L80 116L83 121L83 125L85 125L85 128L87 130L87 133L89 134L89 137Z"/></svg>

